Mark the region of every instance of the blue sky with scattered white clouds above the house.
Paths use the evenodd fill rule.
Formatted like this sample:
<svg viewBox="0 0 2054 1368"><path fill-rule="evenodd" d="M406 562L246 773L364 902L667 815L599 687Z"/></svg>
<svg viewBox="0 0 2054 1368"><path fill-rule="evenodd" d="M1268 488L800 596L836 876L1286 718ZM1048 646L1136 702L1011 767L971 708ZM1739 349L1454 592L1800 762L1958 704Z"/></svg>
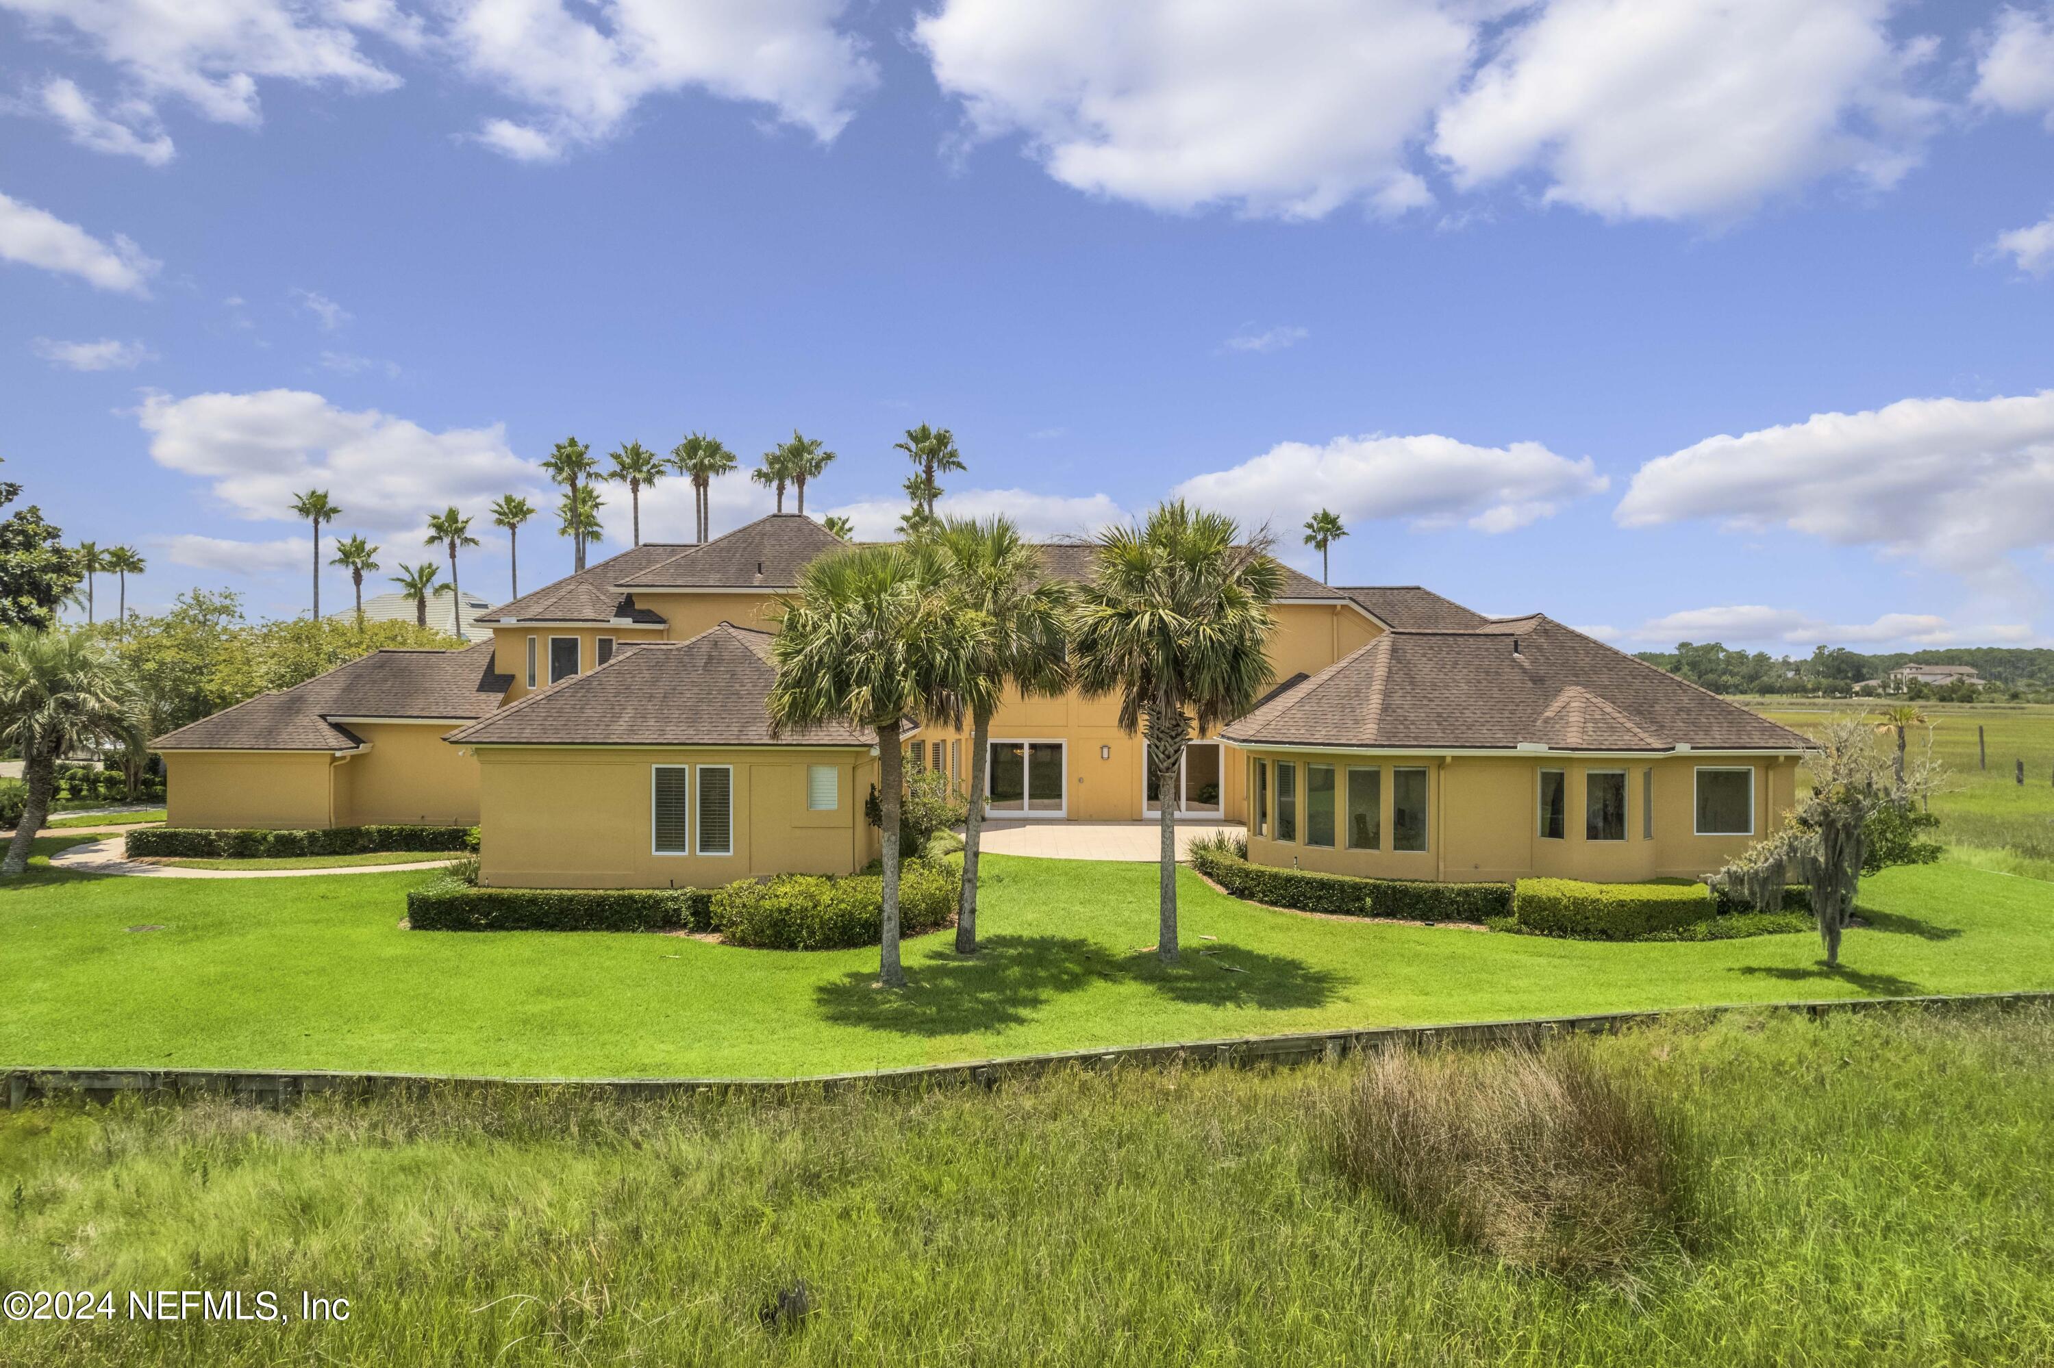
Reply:
<svg viewBox="0 0 2054 1368"><path fill-rule="evenodd" d="M146 608L565 433L797 427L883 534L928 421L965 511L1327 505L1627 647L2054 637L2050 8L0 0L0 456Z"/></svg>

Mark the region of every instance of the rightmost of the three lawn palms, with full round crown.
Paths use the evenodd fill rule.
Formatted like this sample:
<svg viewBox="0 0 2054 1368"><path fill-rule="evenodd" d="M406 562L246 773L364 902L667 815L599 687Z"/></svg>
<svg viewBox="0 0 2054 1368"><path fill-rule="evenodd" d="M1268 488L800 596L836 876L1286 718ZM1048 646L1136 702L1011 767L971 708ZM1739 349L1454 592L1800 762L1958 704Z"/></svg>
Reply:
<svg viewBox="0 0 2054 1368"><path fill-rule="evenodd" d="M1070 659L1087 694L1119 696L1119 729L1146 729L1161 807L1156 955L1177 959L1177 766L1200 733L1241 717L1269 680L1269 602L1284 571L1267 530L1237 542L1232 518L1158 505L1146 526L1099 534L1078 590Z"/></svg>

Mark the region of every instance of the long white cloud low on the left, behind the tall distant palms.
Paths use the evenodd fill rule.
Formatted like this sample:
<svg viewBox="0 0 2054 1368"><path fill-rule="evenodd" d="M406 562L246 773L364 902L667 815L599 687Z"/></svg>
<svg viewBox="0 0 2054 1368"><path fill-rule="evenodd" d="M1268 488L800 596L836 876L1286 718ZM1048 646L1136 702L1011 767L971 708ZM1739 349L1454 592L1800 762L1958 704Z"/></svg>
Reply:
<svg viewBox="0 0 2054 1368"><path fill-rule="evenodd" d="M296 493L327 489L345 526L413 532L448 503L483 511L503 493L544 497L538 468L507 450L499 423L429 431L306 390L189 398L150 390L138 417L150 458L207 481L238 518L292 520Z"/></svg>

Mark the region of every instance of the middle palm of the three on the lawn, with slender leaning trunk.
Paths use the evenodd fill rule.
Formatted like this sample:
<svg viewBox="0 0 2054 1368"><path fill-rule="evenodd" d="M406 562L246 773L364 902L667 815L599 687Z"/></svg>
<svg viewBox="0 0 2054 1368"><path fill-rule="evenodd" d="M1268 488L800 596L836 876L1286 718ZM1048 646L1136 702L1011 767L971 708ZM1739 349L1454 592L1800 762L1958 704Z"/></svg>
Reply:
<svg viewBox="0 0 2054 1368"><path fill-rule="evenodd" d="M955 949L978 949L978 838L984 830L984 768L990 760L992 715L1004 690L1056 696L1070 684L1070 587L1048 579L1041 550L1006 518L951 518L937 540L949 559L959 602L984 616L990 633L972 663L963 702L969 711L969 815L963 820L963 900Z"/></svg>

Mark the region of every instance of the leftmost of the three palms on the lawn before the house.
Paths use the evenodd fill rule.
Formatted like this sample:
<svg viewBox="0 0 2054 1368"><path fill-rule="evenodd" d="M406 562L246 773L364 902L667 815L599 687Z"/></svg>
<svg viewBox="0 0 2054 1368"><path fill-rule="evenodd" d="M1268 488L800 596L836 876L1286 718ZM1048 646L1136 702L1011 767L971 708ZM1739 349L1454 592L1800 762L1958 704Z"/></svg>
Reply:
<svg viewBox="0 0 2054 1368"><path fill-rule="evenodd" d="M949 563L933 546L852 546L813 559L781 608L770 639L776 682L772 735L844 721L877 737L883 807L883 945L879 982L906 986L900 965L900 735L908 719L959 721L984 618L947 594Z"/></svg>

